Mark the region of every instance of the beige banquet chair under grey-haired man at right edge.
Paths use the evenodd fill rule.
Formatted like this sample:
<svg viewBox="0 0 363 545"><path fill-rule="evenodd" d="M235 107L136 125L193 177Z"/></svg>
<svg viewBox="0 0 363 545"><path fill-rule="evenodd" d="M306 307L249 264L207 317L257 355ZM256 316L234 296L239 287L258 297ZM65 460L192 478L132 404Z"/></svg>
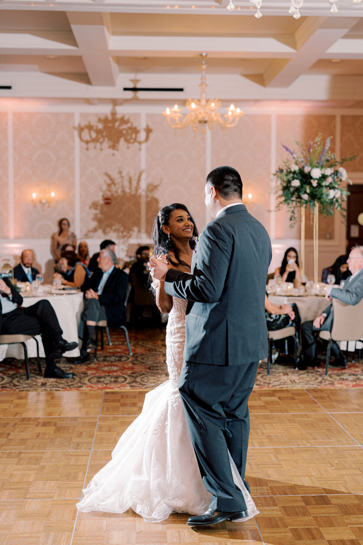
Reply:
<svg viewBox="0 0 363 545"><path fill-rule="evenodd" d="M319 338L328 341L325 377L328 376L331 344L341 341L359 341L363 336L363 299L356 305L347 305L332 299L334 320L331 331L319 331ZM344 356L346 368L348 360Z"/></svg>

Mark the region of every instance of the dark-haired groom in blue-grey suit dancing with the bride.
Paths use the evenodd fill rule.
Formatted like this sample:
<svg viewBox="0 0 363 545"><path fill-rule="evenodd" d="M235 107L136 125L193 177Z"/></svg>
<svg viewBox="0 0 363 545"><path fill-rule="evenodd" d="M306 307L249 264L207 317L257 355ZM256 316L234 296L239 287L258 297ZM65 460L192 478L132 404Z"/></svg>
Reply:
<svg viewBox="0 0 363 545"><path fill-rule="evenodd" d="M248 517L228 452L244 479L248 398L268 350L264 296L272 257L266 229L242 204L242 180L234 168L208 174L205 203L214 220L200 236L192 274L156 258L149 262L152 276L165 280L165 292L188 301L179 391L200 473L212 494L208 510L188 519L193 526Z"/></svg>

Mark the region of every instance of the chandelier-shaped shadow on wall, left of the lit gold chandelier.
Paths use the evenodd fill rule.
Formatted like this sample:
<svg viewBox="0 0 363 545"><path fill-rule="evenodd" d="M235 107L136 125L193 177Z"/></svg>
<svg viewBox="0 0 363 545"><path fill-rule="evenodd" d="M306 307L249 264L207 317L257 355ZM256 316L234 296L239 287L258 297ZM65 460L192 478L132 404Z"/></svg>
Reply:
<svg viewBox="0 0 363 545"><path fill-rule="evenodd" d="M124 140L126 146L131 144L144 144L149 140L149 136L152 132L149 125L146 125L144 132L144 140L138 140L140 129L133 125L128 117L117 115L115 105L112 106L110 116L97 117L97 123L91 122L81 125L78 123L74 129L78 132L79 140L85 143L88 149L91 144L96 148L98 145L102 150L103 144L107 144L108 149L117 152L121 140Z"/></svg>

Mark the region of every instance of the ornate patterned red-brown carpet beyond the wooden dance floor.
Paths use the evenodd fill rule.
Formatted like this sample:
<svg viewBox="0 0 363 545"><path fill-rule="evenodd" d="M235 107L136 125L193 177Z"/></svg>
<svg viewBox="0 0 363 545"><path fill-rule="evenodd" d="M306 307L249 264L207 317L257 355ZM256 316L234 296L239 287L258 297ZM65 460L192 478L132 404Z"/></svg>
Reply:
<svg viewBox="0 0 363 545"><path fill-rule="evenodd" d="M75 377L67 380L45 379L39 376L36 360L30 359L31 380L26 378L24 362L5 359L0 362L0 390L59 391L59 390L150 390L168 379L165 362L165 329L130 330L133 355L129 356L125 336L119 329L111 329L112 346L104 344L97 361L73 365L63 358L59 365L74 371ZM363 386L363 362L352 362L347 369L330 368L324 377L324 354L319 355L321 365L316 369L295 371L292 366L274 364L270 376L266 363L261 362L255 388L350 388ZM91 356L93 357L93 356ZM42 360L44 369L45 360Z"/></svg>

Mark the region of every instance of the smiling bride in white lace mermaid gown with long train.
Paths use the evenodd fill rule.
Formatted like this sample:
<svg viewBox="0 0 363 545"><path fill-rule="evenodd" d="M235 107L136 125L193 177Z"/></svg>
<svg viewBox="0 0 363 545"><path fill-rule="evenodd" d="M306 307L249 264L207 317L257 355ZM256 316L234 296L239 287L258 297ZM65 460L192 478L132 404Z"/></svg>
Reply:
<svg viewBox="0 0 363 545"><path fill-rule="evenodd" d="M183 204L162 208L154 222L155 255L181 271L190 272L195 238L194 220ZM167 325L167 365L169 380L148 392L141 414L121 435L112 460L83 490L77 504L82 512L124 513L132 508L146 522L161 522L170 513L201 514L208 508L211 494L201 479L183 405L178 380L183 364L187 301L164 291L164 282L153 282L159 310L169 314ZM259 513L236 465L231 461L233 480L245 497L248 520Z"/></svg>

